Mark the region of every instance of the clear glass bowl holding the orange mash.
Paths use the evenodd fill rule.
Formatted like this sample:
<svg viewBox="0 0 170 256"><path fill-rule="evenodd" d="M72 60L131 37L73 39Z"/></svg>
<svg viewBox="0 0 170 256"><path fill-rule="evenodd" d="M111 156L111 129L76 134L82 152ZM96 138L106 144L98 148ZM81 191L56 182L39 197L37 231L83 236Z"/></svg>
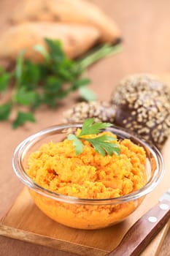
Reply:
<svg viewBox="0 0 170 256"><path fill-rule="evenodd" d="M107 199L82 199L59 195L36 184L27 174L28 156L43 143L62 141L68 132L81 128L82 124L61 124L48 127L23 140L15 149L12 165L20 181L28 187L36 206L48 217L63 225L80 229L98 229L123 221L136 210L163 176L163 159L154 146L131 135L122 128L109 127L106 130L117 135L117 139L128 138L146 151L147 183L139 190L121 197ZM71 133L69 132L69 133Z"/></svg>

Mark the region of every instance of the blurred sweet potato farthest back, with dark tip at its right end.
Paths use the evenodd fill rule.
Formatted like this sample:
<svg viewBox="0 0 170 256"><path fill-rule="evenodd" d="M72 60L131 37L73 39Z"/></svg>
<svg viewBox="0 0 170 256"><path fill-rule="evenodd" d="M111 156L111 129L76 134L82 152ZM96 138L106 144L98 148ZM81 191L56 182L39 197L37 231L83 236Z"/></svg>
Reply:
<svg viewBox="0 0 170 256"><path fill-rule="evenodd" d="M98 29L100 42L116 43L120 39L115 21L85 0L20 0L10 20L14 24L26 21L85 24Z"/></svg>

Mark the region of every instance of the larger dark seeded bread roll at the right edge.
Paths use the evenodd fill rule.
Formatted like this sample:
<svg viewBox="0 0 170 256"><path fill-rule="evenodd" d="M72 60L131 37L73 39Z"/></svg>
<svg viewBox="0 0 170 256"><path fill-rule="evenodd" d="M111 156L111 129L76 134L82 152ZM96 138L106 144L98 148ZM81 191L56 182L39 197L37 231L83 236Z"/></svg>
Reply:
<svg viewBox="0 0 170 256"><path fill-rule="evenodd" d="M170 90L165 84L150 75L129 76L120 81L111 102L116 125L163 147L170 134Z"/></svg>

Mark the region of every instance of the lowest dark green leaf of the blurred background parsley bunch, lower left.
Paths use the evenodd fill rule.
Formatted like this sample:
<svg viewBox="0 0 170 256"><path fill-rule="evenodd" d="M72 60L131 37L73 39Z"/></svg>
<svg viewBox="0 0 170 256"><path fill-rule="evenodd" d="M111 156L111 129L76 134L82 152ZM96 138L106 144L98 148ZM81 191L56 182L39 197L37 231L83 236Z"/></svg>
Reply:
<svg viewBox="0 0 170 256"><path fill-rule="evenodd" d="M26 121L31 121L31 122L35 121L33 113L18 111L17 118L15 119L15 121L12 124L13 128L14 129L18 128L19 126L25 124Z"/></svg>

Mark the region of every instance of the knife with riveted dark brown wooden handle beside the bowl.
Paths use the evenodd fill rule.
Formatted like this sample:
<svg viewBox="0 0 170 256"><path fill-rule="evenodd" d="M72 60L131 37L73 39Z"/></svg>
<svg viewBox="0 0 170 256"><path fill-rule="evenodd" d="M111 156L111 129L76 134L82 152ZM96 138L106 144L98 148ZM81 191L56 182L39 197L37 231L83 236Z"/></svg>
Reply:
<svg viewBox="0 0 170 256"><path fill-rule="evenodd" d="M170 219L170 189L125 233L120 244L105 256L137 256Z"/></svg>

